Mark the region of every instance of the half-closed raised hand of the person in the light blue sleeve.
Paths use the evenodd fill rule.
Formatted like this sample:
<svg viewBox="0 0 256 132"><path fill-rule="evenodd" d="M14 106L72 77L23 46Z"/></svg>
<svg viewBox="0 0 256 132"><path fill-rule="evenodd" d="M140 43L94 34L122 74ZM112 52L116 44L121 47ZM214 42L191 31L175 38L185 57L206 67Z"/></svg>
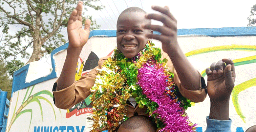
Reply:
<svg viewBox="0 0 256 132"><path fill-rule="evenodd" d="M234 62L231 59L222 59L222 61L212 63L205 72L207 74L207 93L210 99L228 101L235 85Z"/></svg>

